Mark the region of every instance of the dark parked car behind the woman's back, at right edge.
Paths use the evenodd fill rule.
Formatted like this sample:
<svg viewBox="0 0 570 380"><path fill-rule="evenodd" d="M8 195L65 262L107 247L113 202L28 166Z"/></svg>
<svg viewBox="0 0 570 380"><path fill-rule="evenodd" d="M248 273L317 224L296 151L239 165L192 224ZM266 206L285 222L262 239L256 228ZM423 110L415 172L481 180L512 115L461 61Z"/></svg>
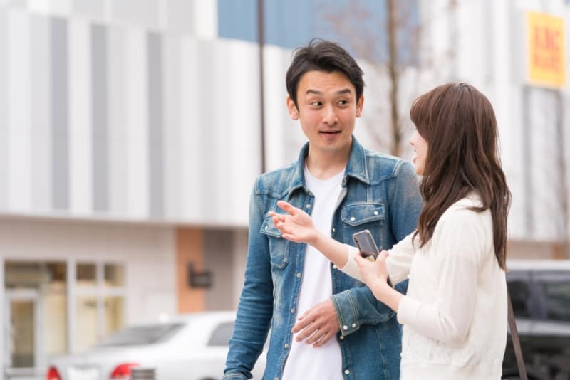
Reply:
<svg viewBox="0 0 570 380"><path fill-rule="evenodd" d="M507 286L529 380L570 379L570 260L507 263ZM503 379L519 379L507 342Z"/></svg>

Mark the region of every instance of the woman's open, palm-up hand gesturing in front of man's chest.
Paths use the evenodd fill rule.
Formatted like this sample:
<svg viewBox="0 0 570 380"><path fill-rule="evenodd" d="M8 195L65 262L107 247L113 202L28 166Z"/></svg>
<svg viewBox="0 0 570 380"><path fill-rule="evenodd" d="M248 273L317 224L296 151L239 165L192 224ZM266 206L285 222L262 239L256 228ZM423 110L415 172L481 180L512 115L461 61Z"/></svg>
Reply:
<svg viewBox="0 0 570 380"><path fill-rule="evenodd" d="M283 237L296 243L309 243L314 245L318 238L311 216L305 211L297 209L286 201L278 201L279 209L286 213L276 213L269 211L269 216L273 219L273 224L281 231Z"/></svg>

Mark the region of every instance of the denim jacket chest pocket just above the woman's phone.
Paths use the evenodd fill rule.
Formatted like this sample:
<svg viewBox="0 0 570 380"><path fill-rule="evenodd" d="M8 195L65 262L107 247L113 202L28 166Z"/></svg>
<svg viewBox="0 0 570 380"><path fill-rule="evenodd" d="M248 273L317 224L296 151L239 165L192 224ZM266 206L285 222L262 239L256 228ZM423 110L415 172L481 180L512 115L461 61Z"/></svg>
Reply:
<svg viewBox="0 0 570 380"><path fill-rule="evenodd" d="M341 221L345 229L345 241L352 241L353 233L370 230L378 248L384 245L383 230L385 228L386 211L384 204L362 203L349 204L341 210Z"/></svg>

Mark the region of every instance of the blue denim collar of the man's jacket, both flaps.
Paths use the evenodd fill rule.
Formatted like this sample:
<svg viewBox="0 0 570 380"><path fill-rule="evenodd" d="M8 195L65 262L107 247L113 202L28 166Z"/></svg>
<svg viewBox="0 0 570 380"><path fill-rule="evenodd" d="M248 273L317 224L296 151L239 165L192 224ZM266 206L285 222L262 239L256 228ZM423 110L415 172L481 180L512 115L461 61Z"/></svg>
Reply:
<svg viewBox="0 0 570 380"><path fill-rule="evenodd" d="M309 142L303 145L301 152L299 152L299 159L297 159L297 162L294 164L293 172L291 173L291 182L289 184L289 197L299 188L308 192L304 176L307 154L309 154ZM346 187L349 176L365 184L370 184L366 167L366 151L354 135L352 136L351 154L348 156L348 163L346 164L346 171L344 172L343 187Z"/></svg>

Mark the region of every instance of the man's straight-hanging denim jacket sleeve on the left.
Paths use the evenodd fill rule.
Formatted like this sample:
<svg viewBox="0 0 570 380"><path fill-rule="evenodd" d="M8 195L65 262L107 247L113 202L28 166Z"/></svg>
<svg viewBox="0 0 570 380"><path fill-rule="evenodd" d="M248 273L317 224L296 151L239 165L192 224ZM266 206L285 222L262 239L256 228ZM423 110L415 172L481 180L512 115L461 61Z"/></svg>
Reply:
<svg viewBox="0 0 570 380"><path fill-rule="evenodd" d="M259 180L258 180L259 181ZM252 191L249 204L249 242L245 282L224 370L224 380L251 379L263 350L273 315L273 282L269 243L259 231L264 220L261 199Z"/></svg>

